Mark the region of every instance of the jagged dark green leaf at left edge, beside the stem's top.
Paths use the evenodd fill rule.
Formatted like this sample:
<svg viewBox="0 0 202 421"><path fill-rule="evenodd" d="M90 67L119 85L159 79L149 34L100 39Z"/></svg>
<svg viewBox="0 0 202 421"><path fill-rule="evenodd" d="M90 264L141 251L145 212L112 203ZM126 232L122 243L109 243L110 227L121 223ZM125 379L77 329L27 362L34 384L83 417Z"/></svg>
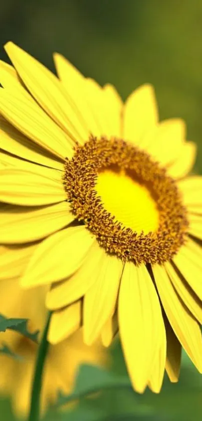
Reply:
<svg viewBox="0 0 202 421"><path fill-rule="evenodd" d="M39 331L30 333L27 328L28 319L8 319L0 314L0 332L5 332L7 329L15 330L21 333L34 342L38 342Z"/></svg>

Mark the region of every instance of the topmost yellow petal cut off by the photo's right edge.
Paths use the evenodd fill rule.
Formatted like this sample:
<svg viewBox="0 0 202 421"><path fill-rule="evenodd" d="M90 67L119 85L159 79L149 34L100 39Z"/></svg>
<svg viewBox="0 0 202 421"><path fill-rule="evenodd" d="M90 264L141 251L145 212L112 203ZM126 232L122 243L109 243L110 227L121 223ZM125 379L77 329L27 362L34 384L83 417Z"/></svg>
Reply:
<svg viewBox="0 0 202 421"><path fill-rule="evenodd" d="M183 202L188 207L202 205L202 177L191 176L177 182L177 185L182 192Z"/></svg>

